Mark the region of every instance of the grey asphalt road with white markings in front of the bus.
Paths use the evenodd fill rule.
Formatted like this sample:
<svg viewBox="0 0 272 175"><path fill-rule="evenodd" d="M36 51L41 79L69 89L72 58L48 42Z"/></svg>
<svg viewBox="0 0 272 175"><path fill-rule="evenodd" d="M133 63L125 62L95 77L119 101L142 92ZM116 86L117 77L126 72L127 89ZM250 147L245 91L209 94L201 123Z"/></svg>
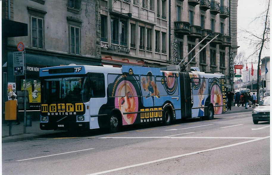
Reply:
<svg viewBox="0 0 272 175"><path fill-rule="evenodd" d="M2 144L3 174L270 174L270 123L251 112Z"/></svg>

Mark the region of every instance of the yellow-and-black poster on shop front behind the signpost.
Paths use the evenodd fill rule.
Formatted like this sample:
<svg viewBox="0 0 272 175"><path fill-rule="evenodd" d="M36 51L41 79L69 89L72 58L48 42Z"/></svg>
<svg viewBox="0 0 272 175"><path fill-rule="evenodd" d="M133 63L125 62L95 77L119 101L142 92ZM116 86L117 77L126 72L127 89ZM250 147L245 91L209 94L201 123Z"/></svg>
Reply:
<svg viewBox="0 0 272 175"><path fill-rule="evenodd" d="M21 80L21 90L24 90L24 80ZM29 103L40 103L40 80L27 79L26 90L28 91Z"/></svg>

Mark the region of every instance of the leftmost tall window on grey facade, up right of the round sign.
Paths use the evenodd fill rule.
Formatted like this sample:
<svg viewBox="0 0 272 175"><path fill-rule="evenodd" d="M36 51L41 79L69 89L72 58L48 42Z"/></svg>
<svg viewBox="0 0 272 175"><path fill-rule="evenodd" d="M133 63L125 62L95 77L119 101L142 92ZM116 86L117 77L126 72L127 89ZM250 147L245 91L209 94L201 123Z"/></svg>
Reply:
<svg viewBox="0 0 272 175"><path fill-rule="evenodd" d="M31 17L32 47L43 49L43 19Z"/></svg>

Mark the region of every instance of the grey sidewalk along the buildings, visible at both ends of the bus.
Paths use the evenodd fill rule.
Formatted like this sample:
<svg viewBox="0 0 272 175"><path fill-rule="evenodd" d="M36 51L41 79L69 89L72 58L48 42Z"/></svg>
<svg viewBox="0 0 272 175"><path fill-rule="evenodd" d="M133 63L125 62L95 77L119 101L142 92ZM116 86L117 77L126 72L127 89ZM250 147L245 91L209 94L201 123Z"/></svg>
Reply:
<svg viewBox="0 0 272 175"><path fill-rule="evenodd" d="M245 109L245 107L242 106L232 106L232 110L228 110L226 114L248 111L252 111L252 107ZM16 125L16 122L13 121L11 130L12 136L9 136L9 126L7 126L7 123L2 123L2 143L37 139L60 132L66 131L41 130L40 121L32 121L32 126L26 127L26 133L24 133L24 122L21 122L20 125Z"/></svg>

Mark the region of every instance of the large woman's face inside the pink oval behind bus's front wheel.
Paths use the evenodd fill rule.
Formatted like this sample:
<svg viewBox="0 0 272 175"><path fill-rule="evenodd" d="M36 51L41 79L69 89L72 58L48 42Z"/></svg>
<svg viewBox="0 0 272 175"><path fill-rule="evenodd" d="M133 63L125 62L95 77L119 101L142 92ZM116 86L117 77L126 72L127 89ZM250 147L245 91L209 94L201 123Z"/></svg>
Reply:
<svg viewBox="0 0 272 175"><path fill-rule="evenodd" d="M123 86L121 89L121 94L125 94L125 86ZM119 97L119 106L121 112L135 112L135 97L132 97L132 90L131 88L126 85L126 96L125 97ZM135 114L123 114L124 120L127 124L132 124Z"/></svg>

